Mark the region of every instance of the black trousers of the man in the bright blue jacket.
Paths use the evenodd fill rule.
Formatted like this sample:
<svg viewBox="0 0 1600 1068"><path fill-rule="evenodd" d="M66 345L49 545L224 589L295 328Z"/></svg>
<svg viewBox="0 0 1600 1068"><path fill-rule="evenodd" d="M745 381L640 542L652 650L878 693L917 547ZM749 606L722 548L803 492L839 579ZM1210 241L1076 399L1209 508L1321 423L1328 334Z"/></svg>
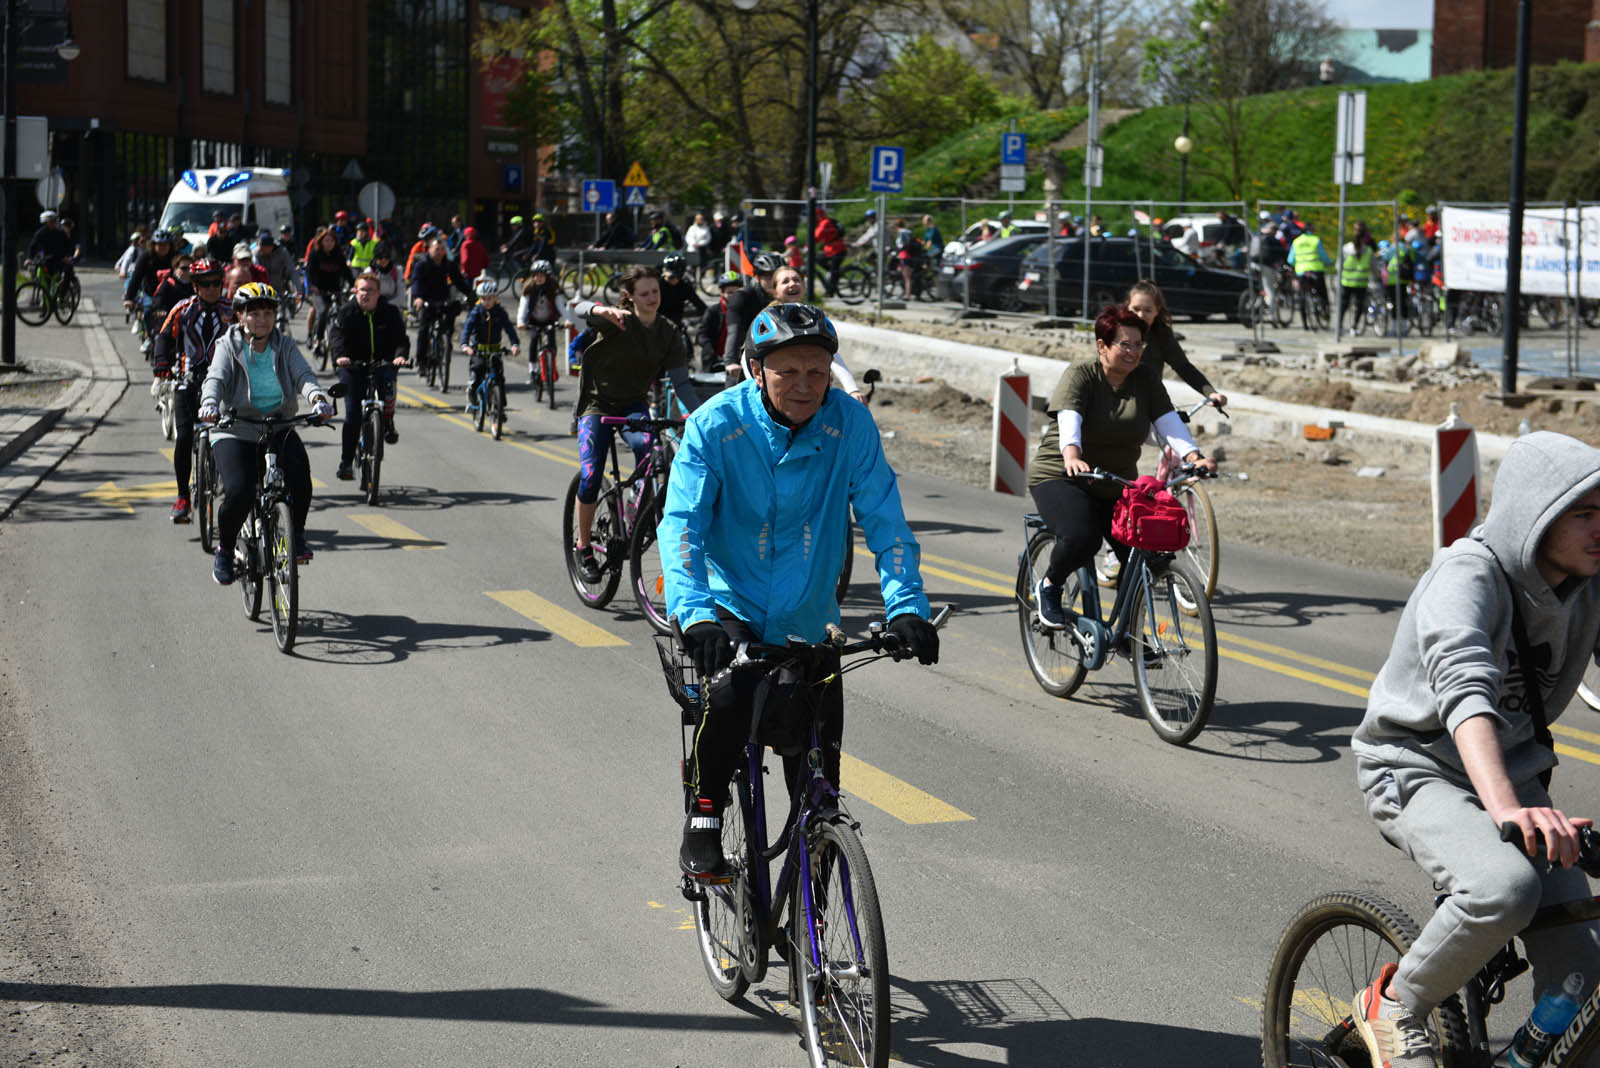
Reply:
<svg viewBox="0 0 1600 1068"><path fill-rule="evenodd" d="M733 638L741 641L760 641L750 627L725 611L718 611L720 622ZM744 745L750 739L750 710L755 702L755 687L765 671L760 667L736 670L726 691L718 691L712 699L706 718L694 732L694 766L693 775L696 795L710 798L722 806L728 795L728 782L733 769L744 758ZM845 694L834 679L822 691L822 772L838 785L838 747L845 737ZM794 790L795 779L805 771L805 751L784 755L784 782Z"/></svg>

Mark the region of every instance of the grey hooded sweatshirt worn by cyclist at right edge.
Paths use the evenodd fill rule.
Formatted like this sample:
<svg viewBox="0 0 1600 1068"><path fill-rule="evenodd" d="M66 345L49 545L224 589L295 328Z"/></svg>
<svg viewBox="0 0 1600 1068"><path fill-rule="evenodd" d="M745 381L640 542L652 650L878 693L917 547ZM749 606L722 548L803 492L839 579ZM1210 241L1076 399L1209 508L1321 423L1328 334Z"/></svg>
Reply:
<svg viewBox="0 0 1600 1068"><path fill-rule="evenodd" d="M1363 791L1386 771L1403 779L1405 769L1472 790L1453 737L1472 716L1494 718L1514 783L1555 764L1555 753L1534 740L1525 708L1512 598L1522 609L1546 721L1554 721L1595 654L1600 577L1552 590L1534 558L1550 523L1597 486L1600 451L1576 438L1530 433L1506 451L1488 518L1434 555L1400 614L1350 740Z"/></svg>

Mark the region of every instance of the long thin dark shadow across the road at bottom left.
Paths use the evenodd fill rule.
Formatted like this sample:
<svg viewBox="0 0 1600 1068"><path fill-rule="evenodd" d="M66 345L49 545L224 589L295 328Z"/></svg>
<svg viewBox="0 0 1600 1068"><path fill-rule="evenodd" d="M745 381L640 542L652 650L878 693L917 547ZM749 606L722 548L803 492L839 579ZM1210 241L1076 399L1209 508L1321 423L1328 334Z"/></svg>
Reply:
<svg viewBox="0 0 1600 1068"><path fill-rule="evenodd" d="M0 983L0 1001L219 1012L290 1012L304 1015L386 1017L397 1020L475 1020L662 1031L784 1031L789 1025L755 1012L645 1012L574 998L539 986L486 990L358 990L350 986L274 986L266 983L170 983L88 986L80 983Z"/></svg>

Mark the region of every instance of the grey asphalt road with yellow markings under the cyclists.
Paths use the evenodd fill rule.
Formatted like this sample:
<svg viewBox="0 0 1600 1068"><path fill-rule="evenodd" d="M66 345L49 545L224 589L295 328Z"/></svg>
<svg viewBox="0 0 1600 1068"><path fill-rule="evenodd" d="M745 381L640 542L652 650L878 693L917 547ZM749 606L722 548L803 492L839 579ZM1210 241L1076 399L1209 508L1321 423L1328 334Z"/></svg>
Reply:
<svg viewBox="0 0 1600 1068"><path fill-rule="evenodd" d="M0 775L58 859L16 878L72 902L104 978L24 970L0 996L70 1002L158 1068L802 1063L781 967L739 1006L701 972L650 630L566 585L565 411L514 389L494 443L408 373L378 508L333 480L336 433L307 432L326 484L285 657L168 523L147 377L114 341L134 387L0 524ZM1347 748L1408 587L1227 547L1224 510L1218 707L1174 748L1125 665L1069 702L1034 684L1018 502L901 486L957 616L938 667L846 691L896 1058L1259 1063L1262 975L1301 902L1429 903ZM858 630L882 608L864 563ZM1594 814L1597 735L1558 740L1557 795Z"/></svg>

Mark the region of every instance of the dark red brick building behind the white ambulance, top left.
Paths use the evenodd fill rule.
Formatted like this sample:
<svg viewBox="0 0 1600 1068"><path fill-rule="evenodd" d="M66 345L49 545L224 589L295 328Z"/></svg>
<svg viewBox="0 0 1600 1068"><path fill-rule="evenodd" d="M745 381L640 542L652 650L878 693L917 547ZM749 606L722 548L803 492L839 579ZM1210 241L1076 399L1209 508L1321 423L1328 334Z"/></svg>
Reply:
<svg viewBox="0 0 1600 1068"><path fill-rule="evenodd" d="M102 256L189 166L291 168L299 232L376 179L402 229L459 213L493 235L533 206L539 153L485 122L506 70L485 93L472 38L533 2L19 0L75 13L80 54L18 112L50 120L62 211Z"/></svg>

